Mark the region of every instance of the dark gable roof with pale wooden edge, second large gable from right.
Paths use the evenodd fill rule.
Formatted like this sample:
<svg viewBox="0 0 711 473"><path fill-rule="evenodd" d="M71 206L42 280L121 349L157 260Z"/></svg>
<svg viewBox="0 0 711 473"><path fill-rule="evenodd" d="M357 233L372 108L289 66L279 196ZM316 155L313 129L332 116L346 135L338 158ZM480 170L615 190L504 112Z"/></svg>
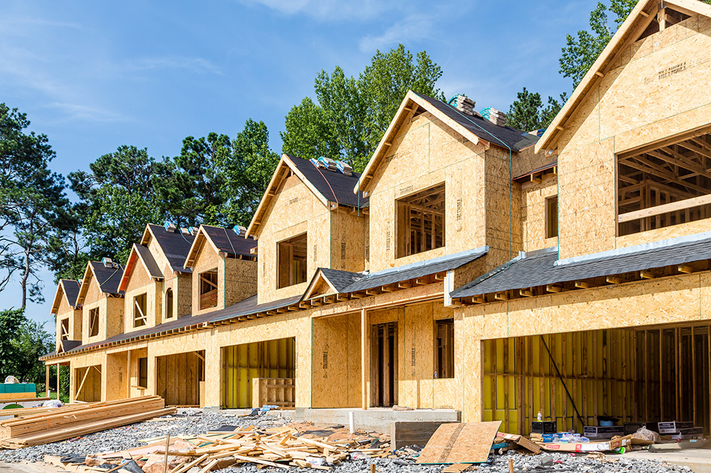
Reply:
<svg viewBox="0 0 711 473"><path fill-rule="evenodd" d="M405 121L410 114L415 112L429 112L444 124L454 129L461 136L466 137L474 144L481 141L484 146L496 145L511 151L522 151L524 148L533 146L538 141L538 136L520 131L510 126L498 126L491 121L483 119L481 116L469 116L460 112L455 107L445 104L441 100L427 97L427 95L417 92L407 92L405 98L400 103L395 116L390 121L383 138L375 148L368 165L365 166L363 174L360 175L358 185L355 190L366 190L368 183L373 179L375 169L385 158L385 153L392 145L395 132L400 128L402 121Z"/></svg>

